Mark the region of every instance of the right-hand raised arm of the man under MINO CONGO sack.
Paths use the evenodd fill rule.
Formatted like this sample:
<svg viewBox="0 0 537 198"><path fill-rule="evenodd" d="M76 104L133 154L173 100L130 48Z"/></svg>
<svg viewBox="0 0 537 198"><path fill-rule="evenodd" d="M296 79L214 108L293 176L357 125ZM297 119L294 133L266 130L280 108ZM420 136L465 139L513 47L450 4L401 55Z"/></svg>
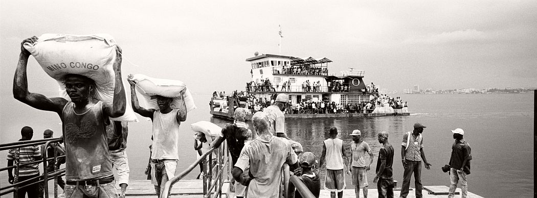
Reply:
<svg viewBox="0 0 537 198"><path fill-rule="evenodd" d="M115 61L113 64L115 74L114 98L112 104L104 103L103 111L112 118L117 118L125 114L127 97L125 97L125 88L121 80L121 48L115 45Z"/></svg>

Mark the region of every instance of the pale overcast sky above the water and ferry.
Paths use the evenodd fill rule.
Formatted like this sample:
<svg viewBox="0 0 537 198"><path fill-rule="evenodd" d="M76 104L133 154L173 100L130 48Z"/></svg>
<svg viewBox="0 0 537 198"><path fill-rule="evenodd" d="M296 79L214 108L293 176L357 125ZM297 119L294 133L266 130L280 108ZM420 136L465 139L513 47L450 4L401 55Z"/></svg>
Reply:
<svg viewBox="0 0 537 198"><path fill-rule="evenodd" d="M245 59L278 54L278 25L281 55L326 57L389 90L537 87L537 1L1 1L0 22L3 95L20 42L43 33L111 34L125 75L244 89ZM55 93L33 58L28 70L31 91Z"/></svg>

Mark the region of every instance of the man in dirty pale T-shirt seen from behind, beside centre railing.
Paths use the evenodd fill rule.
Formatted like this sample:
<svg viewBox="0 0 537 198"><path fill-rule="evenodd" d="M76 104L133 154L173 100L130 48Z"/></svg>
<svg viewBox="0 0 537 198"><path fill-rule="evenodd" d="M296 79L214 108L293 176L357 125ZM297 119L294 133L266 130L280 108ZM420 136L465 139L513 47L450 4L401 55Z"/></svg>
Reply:
<svg viewBox="0 0 537 198"><path fill-rule="evenodd" d="M242 149L233 177L248 186L246 197L278 197L281 167L287 163L289 170L295 170L299 167L297 156L289 144L270 132L271 124L265 112L256 112L252 123L257 138ZM248 174L243 174L248 168Z"/></svg>

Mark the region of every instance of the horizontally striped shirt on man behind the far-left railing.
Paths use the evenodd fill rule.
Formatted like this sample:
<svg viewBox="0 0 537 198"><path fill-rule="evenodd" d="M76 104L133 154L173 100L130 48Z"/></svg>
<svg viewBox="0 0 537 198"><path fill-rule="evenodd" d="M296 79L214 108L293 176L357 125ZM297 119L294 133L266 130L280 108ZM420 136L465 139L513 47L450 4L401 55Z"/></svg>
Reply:
<svg viewBox="0 0 537 198"><path fill-rule="evenodd" d="M8 160L14 160L18 163L35 162L35 157L41 156L38 146L22 147L9 150ZM33 176L39 174L38 163L19 166L19 171L15 172L17 176Z"/></svg>

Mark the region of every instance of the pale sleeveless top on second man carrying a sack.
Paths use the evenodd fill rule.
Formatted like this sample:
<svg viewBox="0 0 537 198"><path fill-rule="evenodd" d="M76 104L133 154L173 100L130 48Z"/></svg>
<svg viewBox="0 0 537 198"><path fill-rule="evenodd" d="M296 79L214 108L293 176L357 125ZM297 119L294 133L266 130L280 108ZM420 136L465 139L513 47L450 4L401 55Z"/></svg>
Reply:
<svg viewBox="0 0 537 198"><path fill-rule="evenodd" d="M151 159L179 159L179 123L177 111L153 113L153 152Z"/></svg>

